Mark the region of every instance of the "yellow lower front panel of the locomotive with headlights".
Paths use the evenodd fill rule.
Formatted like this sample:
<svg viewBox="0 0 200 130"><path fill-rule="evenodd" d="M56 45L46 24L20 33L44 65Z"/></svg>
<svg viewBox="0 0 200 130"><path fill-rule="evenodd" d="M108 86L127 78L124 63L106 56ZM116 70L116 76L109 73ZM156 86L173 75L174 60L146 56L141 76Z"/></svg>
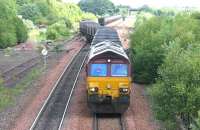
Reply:
<svg viewBox="0 0 200 130"><path fill-rule="evenodd" d="M131 91L130 77L88 77L88 95L110 96L112 99L129 95Z"/></svg>

